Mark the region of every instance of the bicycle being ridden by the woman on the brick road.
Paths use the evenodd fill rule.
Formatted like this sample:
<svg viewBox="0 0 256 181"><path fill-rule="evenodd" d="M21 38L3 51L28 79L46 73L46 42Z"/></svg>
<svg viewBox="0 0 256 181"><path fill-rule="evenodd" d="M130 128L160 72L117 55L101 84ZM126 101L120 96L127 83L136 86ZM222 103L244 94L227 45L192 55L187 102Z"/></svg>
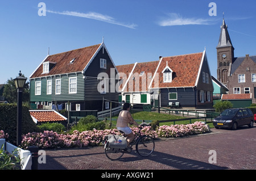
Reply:
<svg viewBox="0 0 256 181"><path fill-rule="evenodd" d="M139 155L142 157L147 157L150 155L154 149L155 149L155 141L152 137L147 135L141 134L141 129L143 127L139 128L138 135L135 136L134 140L131 142L130 146L127 146L125 149L119 149L119 148L110 148L108 145L108 141L105 141L105 154L106 157L111 159L112 161L120 159L124 153L131 153L132 146L136 145L136 151ZM124 137L126 137L126 134L122 131L119 131L122 133Z"/></svg>

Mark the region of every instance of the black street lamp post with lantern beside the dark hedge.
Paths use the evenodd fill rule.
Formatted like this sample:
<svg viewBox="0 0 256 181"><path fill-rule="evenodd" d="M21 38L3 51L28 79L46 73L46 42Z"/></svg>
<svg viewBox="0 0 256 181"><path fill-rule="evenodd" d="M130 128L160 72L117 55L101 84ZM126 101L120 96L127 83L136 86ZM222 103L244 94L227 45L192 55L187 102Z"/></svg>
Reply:
<svg viewBox="0 0 256 181"><path fill-rule="evenodd" d="M16 144L19 146L22 141L22 92L27 78L22 77L21 71L19 71L19 77L14 79L15 86L18 93L17 103L17 131L16 131Z"/></svg>

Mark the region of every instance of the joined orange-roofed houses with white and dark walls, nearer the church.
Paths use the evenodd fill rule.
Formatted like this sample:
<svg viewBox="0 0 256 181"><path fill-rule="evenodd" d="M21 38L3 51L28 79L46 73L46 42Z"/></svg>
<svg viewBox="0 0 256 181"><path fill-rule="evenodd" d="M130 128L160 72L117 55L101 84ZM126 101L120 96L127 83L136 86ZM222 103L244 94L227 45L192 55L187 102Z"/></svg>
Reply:
<svg viewBox="0 0 256 181"><path fill-rule="evenodd" d="M130 69L123 74L128 78L123 79L120 86L121 98L125 102L152 104L155 107L159 104L160 107L179 108L213 106L213 83L205 50L159 57L158 61L117 66L117 69L121 73L128 66ZM144 79L143 72L146 73Z"/></svg>

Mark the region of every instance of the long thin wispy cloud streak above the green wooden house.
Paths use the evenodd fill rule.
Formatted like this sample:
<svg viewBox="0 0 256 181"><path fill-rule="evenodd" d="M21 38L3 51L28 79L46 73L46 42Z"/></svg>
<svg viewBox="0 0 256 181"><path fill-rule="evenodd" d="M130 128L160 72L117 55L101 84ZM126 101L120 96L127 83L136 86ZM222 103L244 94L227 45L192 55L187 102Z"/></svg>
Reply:
<svg viewBox="0 0 256 181"><path fill-rule="evenodd" d="M102 14L97 13L97 12L88 12L88 13L82 13L82 12L76 12L76 11L58 12L58 11L51 11L51 10L47 10L47 12L54 13L54 14L60 14L60 15L77 16L77 17L81 17L81 18L95 19L95 20L99 20L99 21L102 21L102 22L117 24L119 26L132 28L132 29L135 29L135 27L137 27L136 24L125 24L125 23L117 22L111 16L102 15Z"/></svg>

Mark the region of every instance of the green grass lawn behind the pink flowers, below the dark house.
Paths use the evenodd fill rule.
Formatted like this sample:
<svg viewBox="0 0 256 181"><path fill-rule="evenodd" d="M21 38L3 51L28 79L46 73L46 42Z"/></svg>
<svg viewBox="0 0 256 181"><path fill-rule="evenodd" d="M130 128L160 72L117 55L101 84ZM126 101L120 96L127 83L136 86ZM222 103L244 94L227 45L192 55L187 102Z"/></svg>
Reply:
<svg viewBox="0 0 256 181"><path fill-rule="evenodd" d="M131 115L133 116L133 119L136 120L138 123L141 123L142 120L145 120L146 122L150 122L152 120L179 120L179 119L184 119L186 117L180 116L180 115L169 115L166 113L158 113L158 112L146 112L146 111L136 111L136 110L131 110ZM117 123L117 117L118 115L112 117L112 126L114 127L115 124ZM198 119L193 119L191 123L195 123L196 121L204 121L204 120L198 120ZM109 118L108 118L109 122ZM189 124L190 121L175 121L175 124ZM165 122L165 123L160 123L160 125L171 125L174 124L174 122ZM210 128L213 128L212 123L208 123Z"/></svg>

